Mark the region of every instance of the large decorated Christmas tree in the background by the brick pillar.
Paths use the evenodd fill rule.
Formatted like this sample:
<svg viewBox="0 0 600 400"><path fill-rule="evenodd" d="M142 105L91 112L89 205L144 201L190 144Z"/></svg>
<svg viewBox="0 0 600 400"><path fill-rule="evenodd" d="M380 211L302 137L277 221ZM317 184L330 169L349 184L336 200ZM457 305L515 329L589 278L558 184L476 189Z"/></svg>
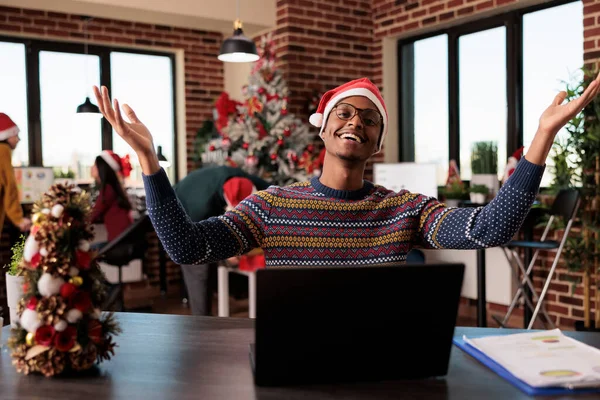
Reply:
<svg viewBox="0 0 600 400"><path fill-rule="evenodd" d="M203 160L239 166L277 185L308 180L322 165L316 133L288 111L288 88L275 68L270 35L261 39L259 54L243 89L245 101L232 101L227 93L217 100L219 137L208 142Z"/></svg>

